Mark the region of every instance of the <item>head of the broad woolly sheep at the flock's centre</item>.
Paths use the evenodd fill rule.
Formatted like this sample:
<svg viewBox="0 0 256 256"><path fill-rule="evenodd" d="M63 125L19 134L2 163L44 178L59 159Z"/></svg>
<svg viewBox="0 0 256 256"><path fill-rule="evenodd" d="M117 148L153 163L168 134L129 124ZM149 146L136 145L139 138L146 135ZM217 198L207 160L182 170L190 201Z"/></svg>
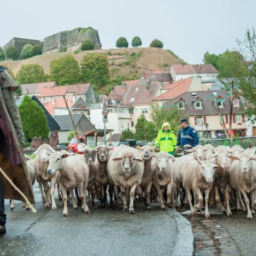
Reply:
<svg viewBox="0 0 256 256"><path fill-rule="evenodd" d="M121 169L124 173L130 173L135 167L136 162L144 162L139 154L133 154L131 152L124 152L122 156L115 157L113 161L119 161Z"/></svg>

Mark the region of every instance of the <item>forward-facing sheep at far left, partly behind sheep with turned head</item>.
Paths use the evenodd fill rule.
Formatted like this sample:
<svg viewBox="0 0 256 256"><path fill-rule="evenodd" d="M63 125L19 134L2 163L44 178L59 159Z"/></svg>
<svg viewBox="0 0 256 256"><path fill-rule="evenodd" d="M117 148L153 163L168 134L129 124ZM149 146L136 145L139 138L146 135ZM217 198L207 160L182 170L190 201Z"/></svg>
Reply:
<svg viewBox="0 0 256 256"><path fill-rule="evenodd" d="M52 209L55 210L57 209L57 206L55 204L55 199L54 199L54 189L55 189L55 184L56 184L56 178L55 175L49 175L47 173L47 167L48 167L48 161L49 161L49 156L52 153L56 153L56 151L47 144L43 144L38 147L38 149L33 153L33 155L36 155L35 157L35 170L36 170L36 177L41 193L41 199L42 202L45 204L45 207L48 208L50 206L50 202L52 203ZM49 181L51 181L51 198L50 198L50 187L49 187ZM44 187L44 193L43 194L43 189L42 186Z"/></svg>

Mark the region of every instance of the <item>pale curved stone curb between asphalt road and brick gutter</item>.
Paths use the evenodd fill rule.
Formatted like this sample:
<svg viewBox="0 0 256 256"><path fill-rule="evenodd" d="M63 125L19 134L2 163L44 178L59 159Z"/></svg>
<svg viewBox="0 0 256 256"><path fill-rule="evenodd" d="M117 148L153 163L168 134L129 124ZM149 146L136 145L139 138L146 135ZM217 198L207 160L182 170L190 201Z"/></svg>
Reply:
<svg viewBox="0 0 256 256"><path fill-rule="evenodd" d="M174 210L167 211L171 214L177 223L177 242L175 243L174 256L192 256L194 255L194 235L192 232L191 223L184 218L179 212Z"/></svg>

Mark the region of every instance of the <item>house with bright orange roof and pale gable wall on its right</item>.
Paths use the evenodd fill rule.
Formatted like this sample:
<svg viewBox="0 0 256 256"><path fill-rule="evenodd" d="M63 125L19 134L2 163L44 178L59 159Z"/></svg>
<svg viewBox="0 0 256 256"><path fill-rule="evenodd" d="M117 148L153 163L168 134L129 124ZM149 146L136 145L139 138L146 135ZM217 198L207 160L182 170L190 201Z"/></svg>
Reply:
<svg viewBox="0 0 256 256"><path fill-rule="evenodd" d="M163 102L174 99L182 93L200 91L202 90L201 81L200 77L190 76L166 85L161 89L162 94L152 99L153 105L162 106Z"/></svg>

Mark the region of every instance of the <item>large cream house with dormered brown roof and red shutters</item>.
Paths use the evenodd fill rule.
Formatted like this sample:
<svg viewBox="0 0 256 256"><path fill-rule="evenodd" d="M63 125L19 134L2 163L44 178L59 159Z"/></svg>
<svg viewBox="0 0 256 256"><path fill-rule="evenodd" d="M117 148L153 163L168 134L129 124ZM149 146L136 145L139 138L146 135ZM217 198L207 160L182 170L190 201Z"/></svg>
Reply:
<svg viewBox="0 0 256 256"><path fill-rule="evenodd" d="M189 124L201 136L218 138L225 134L224 127L229 129L230 97L227 91L185 92L167 101L164 106L177 106L184 116L189 117ZM217 107L218 106L218 107ZM241 100L233 100L232 131L233 134L245 137L247 123Z"/></svg>

